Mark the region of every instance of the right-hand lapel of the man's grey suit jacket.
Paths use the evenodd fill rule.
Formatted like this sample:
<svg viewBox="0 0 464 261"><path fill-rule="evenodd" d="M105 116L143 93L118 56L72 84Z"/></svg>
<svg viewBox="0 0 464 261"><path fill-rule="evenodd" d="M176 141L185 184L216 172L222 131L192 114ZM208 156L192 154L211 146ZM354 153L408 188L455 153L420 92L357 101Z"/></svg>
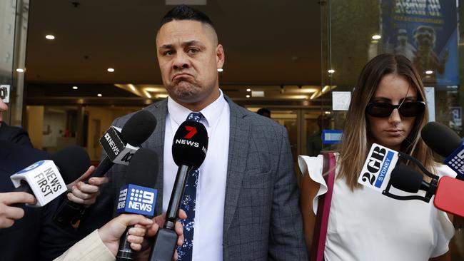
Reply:
<svg viewBox="0 0 464 261"><path fill-rule="evenodd" d="M223 236L227 234L235 214L240 195L243 174L248 157L248 139L250 137L250 125L246 121L243 109L233 103L227 96L226 101L231 110L231 122L229 131L229 150L226 181L226 200L224 203Z"/></svg>

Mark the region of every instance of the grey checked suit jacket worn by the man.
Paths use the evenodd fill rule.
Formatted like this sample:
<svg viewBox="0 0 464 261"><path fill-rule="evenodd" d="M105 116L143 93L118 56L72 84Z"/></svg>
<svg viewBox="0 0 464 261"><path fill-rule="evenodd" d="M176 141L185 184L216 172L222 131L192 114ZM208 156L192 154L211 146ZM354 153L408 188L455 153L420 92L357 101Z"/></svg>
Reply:
<svg viewBox="0 0 464 261"><path fill-rule="evenodd" d="M223 260L307 260L298 185L286 129L269 118L241 108L228 97L226 101L231 121ZM159 155L156 210L161 211L167 100L144 109L151 111L158 122L141 147L151 148ZM131 114L117 118L113 125L122 127L130 117ZM126 167L116 165L111 169L111 181L106 186L110 191L102 188L101 193L112 195L111 199L101 200L104 197L100 196L96 208L101 208L98 205L102 204L108 207L111 200L114 203L118 198L118 189L126 180L125 170Z"/></svg>

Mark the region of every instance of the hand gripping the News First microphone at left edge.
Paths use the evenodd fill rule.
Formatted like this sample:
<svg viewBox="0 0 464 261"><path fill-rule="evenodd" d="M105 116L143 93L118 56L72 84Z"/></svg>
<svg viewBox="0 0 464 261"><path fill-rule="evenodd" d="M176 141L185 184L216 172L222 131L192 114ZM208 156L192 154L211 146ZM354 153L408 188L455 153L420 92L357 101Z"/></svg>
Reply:
<svg viewBox="0 0 464 261"><path fill-rule="evenodd" d="M14 224L14 220L19 220L24 217L24 210L22 208L12 207L12 204L34 204L35 202L36 198L29 193L0 193L0 228L11 227Z"/></svg>

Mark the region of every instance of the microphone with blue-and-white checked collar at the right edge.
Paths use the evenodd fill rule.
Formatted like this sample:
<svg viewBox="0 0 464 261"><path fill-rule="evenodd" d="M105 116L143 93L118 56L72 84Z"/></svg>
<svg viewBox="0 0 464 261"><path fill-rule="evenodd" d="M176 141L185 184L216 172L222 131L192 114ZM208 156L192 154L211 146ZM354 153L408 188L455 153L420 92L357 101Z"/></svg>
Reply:
<svg viewBox="0 0 464 261"><path fill-rule="evenodd" d="M443 163L458 173L456 178L464 180L464 140L438 122L425 124L420 135L429 148L445 158Z"/></svg>

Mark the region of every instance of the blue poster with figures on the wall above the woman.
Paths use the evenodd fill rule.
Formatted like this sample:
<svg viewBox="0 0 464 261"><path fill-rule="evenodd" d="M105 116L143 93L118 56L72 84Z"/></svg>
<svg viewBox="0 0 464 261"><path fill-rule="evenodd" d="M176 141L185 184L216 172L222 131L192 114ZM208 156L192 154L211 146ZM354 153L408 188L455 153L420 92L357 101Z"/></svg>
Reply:
<svg viewBox="0 0 464 261"><path fill-rule="evenodd" d="M440 86L458 86L456 1L381 0L384 51L413 61L421 76Z"/></svg>

